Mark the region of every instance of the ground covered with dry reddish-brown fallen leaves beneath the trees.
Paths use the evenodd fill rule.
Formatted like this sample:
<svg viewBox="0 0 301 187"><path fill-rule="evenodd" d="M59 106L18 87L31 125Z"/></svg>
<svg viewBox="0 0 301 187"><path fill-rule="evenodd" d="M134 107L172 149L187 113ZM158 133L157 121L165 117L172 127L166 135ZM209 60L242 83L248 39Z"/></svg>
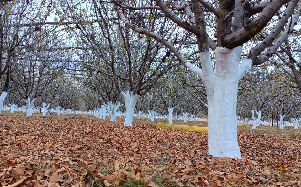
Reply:
<svg viewBox="0 0 301 187"><path fill-rule="evenodd" d="M301 130L239 126L235 160L207 155L206 133L123 120L4 112L0 186L301 186Z"/></svg>

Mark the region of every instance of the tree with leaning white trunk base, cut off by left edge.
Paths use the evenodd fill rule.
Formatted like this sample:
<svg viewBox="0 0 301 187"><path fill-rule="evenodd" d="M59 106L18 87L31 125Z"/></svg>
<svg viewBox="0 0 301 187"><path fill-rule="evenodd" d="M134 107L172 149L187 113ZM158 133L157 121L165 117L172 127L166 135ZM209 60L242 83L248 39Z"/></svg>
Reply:
<svg viewBox="0 0 301 187"><path fill-rule="evenodd" d="M36 32L41 30L41 26L24 27L24 22L44 23L50 15L52 3L48 4L45 0L40 3L48 6L36 6L38 4L36 1L26 0L18 2L2 0L0 2L0 81L4 78L5 82L0 95L0 113L6 96L14 91L20 80L21 74L17 73L14 84L9 83L10 74L14 73L12 72L13 66L18 66L18 59L23 57L24 51L30 50L26 45L29 38L34 37ZM32 39L30 42L33 42L34 46L35 42L40 41ZM3 77L5 72L6 76Z"/></svg>

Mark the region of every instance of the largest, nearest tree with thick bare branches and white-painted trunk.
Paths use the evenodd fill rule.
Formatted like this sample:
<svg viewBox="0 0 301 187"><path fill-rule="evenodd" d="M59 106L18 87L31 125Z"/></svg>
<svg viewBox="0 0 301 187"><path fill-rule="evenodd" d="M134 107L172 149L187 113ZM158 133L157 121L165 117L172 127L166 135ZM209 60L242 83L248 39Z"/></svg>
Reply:
<svg viewBox="0 0 301 187"><path fill-rule="evenodd" d="M155 0L127 4L115 2L115 9L127 27L168 47L184 66L203 80L208 101L209 154L241 158L236 127L239 80L251 69L252 64L267 61L285 41L300 16L301 6L296 7L298 2L275 0L247 3L240 0L219 0L216 5L212 5L204 0ZM279 13L280 9L284 11ZM205 14L205 10L210 13ZM276 14L281 18L278 19ZM212 15L216 24L210 22ZM188 62L185 53L177 50L177 44L172 38L168 38L169 35L162 36L141 24L147 22L149 17L168 17L166 22L176 23L175 27L181 27L182 34L190 35L187 40L194 40L198 44L200 65ZM287 24L290 17L291 21ZM159 21L156 23L160 24ZM284 27L286 29L281 33ZM261 31L267 31L267 37L254 42L253 38ZM216 42L212 39L214 36ZM258 44L253 46L254 43ZM251 49L243 49L242 45ZM214 70L210 49L215 56ZM245 59L241 59L245 56Z"/></svg>

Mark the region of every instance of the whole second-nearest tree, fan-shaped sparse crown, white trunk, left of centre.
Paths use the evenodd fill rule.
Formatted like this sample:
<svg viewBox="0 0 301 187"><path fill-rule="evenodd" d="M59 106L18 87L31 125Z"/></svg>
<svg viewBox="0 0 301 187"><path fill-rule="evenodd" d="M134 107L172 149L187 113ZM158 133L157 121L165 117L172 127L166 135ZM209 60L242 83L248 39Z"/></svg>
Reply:
<svg viewBox="0 0 301 187"><path fill-rule="evenodd" d="M168 47L151 37L131 31L120 21L115 21L116 14L108 11L113 8L110 3L92 0L92 11L83 11L74 8L77 2L63 2L62 9L68 11L60 13L61 19L71 19L76 23L75 27L70 27L72 32L83 42L87 56L93 59L97 55L96 62L103 66L98 71L109 75L114 81L125 102L124 126L132 126L139 96L145 95L162 75L179 62L175 62L175 55L171 54ZM97 21L91 21L91 17L96 17ZM145 24L155 30L153 25L156 21L157 19L153 18ZM172 26L168 27L175 31L176 28ZM167 35L163 28L157 32ZM174 42L177 42L177 38L174 38ZM177 48L180 49L181 45Z"/></svg>

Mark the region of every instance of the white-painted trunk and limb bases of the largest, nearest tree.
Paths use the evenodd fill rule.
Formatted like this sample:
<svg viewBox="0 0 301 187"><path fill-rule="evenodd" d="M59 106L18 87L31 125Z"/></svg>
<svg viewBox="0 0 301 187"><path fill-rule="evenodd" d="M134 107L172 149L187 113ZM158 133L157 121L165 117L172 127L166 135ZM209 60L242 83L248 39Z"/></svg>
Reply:
<svg viewBox="0 0 301 187"><path fill-rule="evenodd" d="M215 157L241 158L237 142L236 106L239 79L251 70L252 60L240 65L242 47L216 47L213 72L210 52L201 52L202 69L187 62L185 66L198 74L207 92L208 153Z"/></svg>

